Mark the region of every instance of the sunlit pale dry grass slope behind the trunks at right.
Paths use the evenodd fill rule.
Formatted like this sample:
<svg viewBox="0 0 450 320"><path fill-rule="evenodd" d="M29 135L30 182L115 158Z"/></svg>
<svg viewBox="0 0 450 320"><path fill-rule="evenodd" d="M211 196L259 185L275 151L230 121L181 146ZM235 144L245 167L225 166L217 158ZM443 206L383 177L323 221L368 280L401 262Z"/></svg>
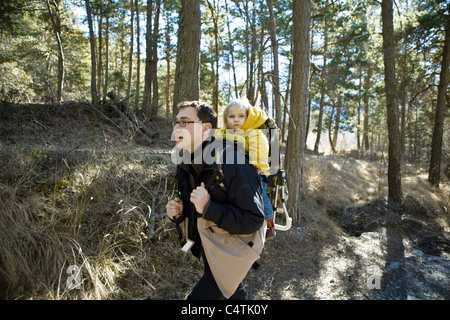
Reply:
<svg viewBox="0 0 450 320"><path fill-rule="evenodd" d="M304 193L330 216L341 214L347 206L358 206L388 194L387 163L346 156L307 155L304 168ZM404 197L422 203L428 212L448 212L450 182L442 175L440 189L430 186L427 173L411 165L402 167Z"/></svg>

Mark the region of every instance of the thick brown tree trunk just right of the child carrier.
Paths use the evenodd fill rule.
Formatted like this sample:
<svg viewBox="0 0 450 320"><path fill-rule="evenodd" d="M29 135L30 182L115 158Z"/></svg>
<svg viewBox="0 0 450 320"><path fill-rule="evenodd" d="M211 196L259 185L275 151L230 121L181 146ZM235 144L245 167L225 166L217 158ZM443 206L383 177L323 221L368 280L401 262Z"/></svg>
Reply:
<svg viewBox="0 0 450 320"><path fill-rule="evenodd" d="M306 107L310 69L310 0L294 1L294 52L292 66L291 115L287 148L288 210L294 222L300 221L303 153L305 150Z"/></svg>

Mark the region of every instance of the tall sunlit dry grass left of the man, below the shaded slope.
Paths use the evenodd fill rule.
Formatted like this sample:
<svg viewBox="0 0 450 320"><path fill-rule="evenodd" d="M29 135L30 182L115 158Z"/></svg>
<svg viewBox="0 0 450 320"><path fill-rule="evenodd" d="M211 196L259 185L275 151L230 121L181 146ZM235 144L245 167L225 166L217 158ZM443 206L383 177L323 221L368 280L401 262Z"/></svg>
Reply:
<svg viewBox="0 0 450 320"><path fill-rule="evenodd" d="M163 218L173 196L169 155L116 151L75 161L46 149L0 150L2 298L180 298L165 269L196 262L179 254ZM69 290L70 265L81 270L80 289Z"/></svg>

